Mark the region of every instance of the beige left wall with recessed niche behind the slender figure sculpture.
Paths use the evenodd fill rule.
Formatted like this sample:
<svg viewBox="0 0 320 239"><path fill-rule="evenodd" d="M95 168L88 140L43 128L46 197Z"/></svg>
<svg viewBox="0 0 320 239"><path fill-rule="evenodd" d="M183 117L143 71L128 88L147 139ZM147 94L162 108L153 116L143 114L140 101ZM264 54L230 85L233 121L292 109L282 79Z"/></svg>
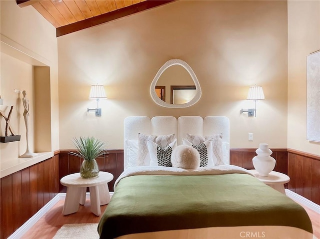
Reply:
<svg viewBox="0 0 320 239"><path fill-rule="evenodd" d="M51 132L49 142L51 145L46 150L57 150L58 141L58 92L57 92L57 39L55 28L48 23L32 6L20 8L15 0L0 1L0 36L1 36L1 78L0 94L4 104L0 110L14 105L11 116L12 128L16 134L21 134L19 142L1 143L0 160L6 161L16 159L24 153L26 147L25 126L22 116L22 95L14 93L13 89L26 90L30 101L30 146L36 147L34 143L34 119L42 114L51 112L48 128ZM48 95L50 96L46 110L35 111L34 102L34 65L48 66L50 72L46 80L50 84ZM42 79L44 80L44 78ZM42 90L42 88L41 88ZM39 106L40 107L40 106ZM41 107L40 107L41 108ZM6 115L8 110L5 110ZM45 117L44 117L45 118ZM1 122L1 136L4 136L4 120ZM47 138L46 138L47 139ZM40 148L42 146L39 146ZM42 147L43 148L43 147ZM36 149L35 149L36 151Z"/></svg>

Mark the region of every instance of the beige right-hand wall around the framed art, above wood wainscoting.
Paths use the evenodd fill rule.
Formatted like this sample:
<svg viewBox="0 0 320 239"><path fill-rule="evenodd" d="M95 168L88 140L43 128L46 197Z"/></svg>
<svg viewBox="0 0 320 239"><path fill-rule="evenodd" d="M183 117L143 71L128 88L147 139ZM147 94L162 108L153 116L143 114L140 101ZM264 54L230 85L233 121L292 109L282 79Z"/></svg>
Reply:
<svg viewBox="0 0 320 239"><path fill-rule="evenodd" d="M287 147L320 155L320 143L306 140L306 56L316 50L320 50L320 1L288 1Z"/></svg>

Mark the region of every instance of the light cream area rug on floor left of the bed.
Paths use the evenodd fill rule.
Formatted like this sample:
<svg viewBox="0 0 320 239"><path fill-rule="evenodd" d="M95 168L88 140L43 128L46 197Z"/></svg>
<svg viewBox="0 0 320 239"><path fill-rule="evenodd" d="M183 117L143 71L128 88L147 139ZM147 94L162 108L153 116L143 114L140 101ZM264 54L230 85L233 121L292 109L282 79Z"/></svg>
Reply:
<svg viewBox="0 0 320 239"><path fill-rule="evenodd" d="M98 239L97 223L64 224L53 239Z"/></svg>

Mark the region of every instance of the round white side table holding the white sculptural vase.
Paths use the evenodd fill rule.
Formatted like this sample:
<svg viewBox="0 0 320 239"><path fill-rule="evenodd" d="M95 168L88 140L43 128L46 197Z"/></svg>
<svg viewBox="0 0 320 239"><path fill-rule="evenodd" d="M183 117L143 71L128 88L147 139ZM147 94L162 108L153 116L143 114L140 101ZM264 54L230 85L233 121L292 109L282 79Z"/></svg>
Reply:
<svg viewBox="0 0 320 239"><path fill-rule="evenodd" d="M259 173L255 169L250 169L248 171L264 184L285 195L284 184L290 181L289 176L279 172L271 171L271 173L265 177L259 176Z"/></svg>

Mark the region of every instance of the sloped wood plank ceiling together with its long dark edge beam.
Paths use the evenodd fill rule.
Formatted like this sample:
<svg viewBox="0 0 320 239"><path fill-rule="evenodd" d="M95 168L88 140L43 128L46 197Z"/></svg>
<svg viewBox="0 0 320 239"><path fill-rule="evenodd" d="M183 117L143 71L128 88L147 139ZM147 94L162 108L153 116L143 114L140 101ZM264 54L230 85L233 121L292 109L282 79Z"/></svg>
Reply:
<svg viewBox="0 0 320 239"><path fill-rule="evenodd" d="M16 0L32 5L56 28L56 36L115 20L174 0Z"/></svg>

